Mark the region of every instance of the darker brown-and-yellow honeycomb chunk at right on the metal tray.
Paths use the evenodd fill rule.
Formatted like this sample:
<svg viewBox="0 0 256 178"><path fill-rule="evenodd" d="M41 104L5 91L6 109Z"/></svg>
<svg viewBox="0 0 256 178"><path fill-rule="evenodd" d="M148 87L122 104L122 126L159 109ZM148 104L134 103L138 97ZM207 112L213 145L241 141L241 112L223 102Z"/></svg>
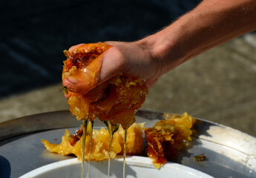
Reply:
<svg viewBox="0 0 256 178"><path fill-rule="evenodd" d="M183 148L192 140L192 127L196 119L188 113L182 115L165 113L153 128L145 128L146 151L156 168L177 158Z"/></svg>

